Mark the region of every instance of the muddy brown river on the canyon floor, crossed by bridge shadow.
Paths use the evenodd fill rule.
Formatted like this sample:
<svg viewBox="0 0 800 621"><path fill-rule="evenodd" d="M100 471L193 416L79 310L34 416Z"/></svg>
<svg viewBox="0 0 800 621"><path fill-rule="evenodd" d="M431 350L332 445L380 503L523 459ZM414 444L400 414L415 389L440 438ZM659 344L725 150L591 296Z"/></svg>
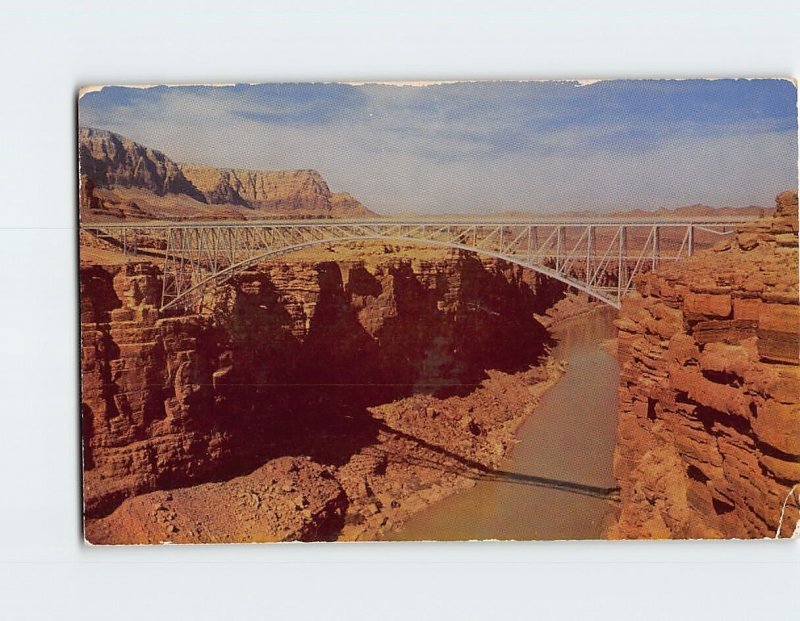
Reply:
<svg viewBox="0 0 800 621"><path fill-rule="evenodd" d="M616 336L601 309L554 332L566 373L517 430L491 480L413 516L385 540L597 539L613 519L607 492L617 422L619 366L600 344Z"/></svg>

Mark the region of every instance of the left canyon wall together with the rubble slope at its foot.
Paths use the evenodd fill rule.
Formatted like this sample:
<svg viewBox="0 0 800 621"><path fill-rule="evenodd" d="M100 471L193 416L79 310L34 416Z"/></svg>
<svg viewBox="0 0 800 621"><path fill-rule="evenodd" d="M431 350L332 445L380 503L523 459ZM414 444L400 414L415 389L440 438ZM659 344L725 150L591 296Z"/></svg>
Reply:
<svg viewBox="0 0 800 621"><path fill-rule="evenodd" d="M504 373L528 373L531 385L549 377L534 313L563 286L453 253L263 264L220 287L204 315L160 315L160 291L150 263L81 268L92 541L216 540L208 529L222 518L208 507L239 504L232 540L329 538L385 520L381 507L402 500L388 487L378 497L387 468L408 473L410 495L425 487L412 457L449 460L453 477L495 463L524 413L518 395L506 411L505 389L482 383L487 373L501 384ZM491 399L506 426L493 429L470 394ZM408 459L393 466L387 455L400 453Z"/></svg>

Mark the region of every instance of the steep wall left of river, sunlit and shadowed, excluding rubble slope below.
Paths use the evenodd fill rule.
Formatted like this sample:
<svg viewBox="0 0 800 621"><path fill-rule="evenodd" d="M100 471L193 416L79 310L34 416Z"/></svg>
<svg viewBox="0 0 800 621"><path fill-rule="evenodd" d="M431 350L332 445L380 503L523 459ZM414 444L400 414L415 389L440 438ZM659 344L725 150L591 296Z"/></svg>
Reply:
<svg viewBox="0 0 800 621"><path fill-rule="evenodd" d="M533 313L563 286L453 254L370 269L265 264L220 288L205 315L161 316L160 291L149 263L81 269L89 517L109 516L137 494L231 479L284 456L347 464L380 433L367 407L412 392L473 390L485 369L543 358L547 335ZM308 519L317 524L307 525L311 533L319 520ZM137 536L157 538L158 528ZM281 536L304 537L298 528Z"/></svg>

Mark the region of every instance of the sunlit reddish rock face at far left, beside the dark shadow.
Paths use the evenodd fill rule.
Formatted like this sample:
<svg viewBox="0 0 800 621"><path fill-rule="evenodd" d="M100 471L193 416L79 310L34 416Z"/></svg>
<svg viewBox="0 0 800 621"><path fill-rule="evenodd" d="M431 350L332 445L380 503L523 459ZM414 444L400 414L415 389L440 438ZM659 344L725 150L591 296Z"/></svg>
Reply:
<svg viewBox="0 0 800 621"><path fill-rule="evenodd" d="M213 334L197 317L159 318L159 283L144 263L81 270L89 515L136 491L207 476L225 445L210 407Z"/></svg>

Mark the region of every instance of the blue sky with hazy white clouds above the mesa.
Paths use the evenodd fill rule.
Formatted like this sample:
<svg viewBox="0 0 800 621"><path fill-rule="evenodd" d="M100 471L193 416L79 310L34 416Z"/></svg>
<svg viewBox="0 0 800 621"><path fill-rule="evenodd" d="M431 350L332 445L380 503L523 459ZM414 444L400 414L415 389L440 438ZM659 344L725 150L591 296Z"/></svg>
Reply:
<svg viewBox="0 0 800 621"><path fill-rule="evenodd" d="M78 114L178 162L312 168L383 214L771 206L797 187L787 80L104 87Z"/></svg>

